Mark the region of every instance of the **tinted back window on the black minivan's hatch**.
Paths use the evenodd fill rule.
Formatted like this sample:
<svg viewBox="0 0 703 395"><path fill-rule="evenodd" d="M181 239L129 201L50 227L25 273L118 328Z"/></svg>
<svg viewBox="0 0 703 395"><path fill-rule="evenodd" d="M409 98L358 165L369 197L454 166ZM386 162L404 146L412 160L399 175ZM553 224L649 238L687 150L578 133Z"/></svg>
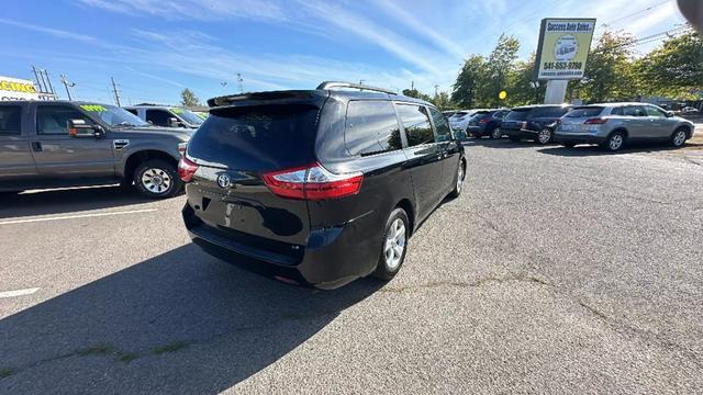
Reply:
<svg viewBox="0 0 703 395"><path fill-rule="evenodd" d="M188 142L188 156L249 171L309 165L314 161L317 112L293 104L212 110Z"/></svg>

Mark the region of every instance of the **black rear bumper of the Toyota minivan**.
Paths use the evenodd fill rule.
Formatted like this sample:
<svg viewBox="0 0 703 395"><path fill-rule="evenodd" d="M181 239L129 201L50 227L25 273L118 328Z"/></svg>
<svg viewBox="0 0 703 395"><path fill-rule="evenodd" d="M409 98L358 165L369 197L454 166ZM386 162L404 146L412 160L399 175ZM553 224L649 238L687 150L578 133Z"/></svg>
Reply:
<svg viewBox="0 0 703 395"><path fill-rule="evenodd" d="M373 212L341 226L312 230L306 246L290 255L236 242L204 224L190 205L182 211L188 235L205 252L252 272L292 280L301 285L335 289L376 269L381 235L373 228Z"/></svg>

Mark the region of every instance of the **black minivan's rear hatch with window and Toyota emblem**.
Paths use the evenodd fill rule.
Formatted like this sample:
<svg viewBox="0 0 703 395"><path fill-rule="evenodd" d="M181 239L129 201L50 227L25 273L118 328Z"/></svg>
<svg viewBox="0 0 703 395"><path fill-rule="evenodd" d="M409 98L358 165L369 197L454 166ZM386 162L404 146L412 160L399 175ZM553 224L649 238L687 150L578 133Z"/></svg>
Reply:
<svg viewBox="0 0 703 395"><path fill-rule="evenodd" d="M305 200L277 195L264 174L315 162L319 105L256 104L212 109L188 143L198 170L189 205L208 232L294 263L310 234Z"/></svg>

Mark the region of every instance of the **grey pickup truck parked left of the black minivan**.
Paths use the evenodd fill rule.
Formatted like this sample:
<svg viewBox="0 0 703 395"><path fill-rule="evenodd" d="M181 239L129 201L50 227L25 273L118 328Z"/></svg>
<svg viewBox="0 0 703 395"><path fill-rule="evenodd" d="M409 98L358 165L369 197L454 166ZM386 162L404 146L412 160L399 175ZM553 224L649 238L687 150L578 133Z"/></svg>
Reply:
<svg viewBox="0 0 703 395"><path fill-rule="evenodd" d="M182 189L178 146L191 134L114 105L0 102L0 192L120 182L169 198Z"/></svg>

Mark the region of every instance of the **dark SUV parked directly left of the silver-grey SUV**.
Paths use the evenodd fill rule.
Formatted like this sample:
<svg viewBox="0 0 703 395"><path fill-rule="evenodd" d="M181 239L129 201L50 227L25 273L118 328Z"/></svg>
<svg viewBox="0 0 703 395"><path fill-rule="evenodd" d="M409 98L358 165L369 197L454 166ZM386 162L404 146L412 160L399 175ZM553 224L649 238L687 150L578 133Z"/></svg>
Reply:
<svg viewBox="0 0 703 395"><path fill-rule="evenodd" d="M501 132L512 142L531 139L551 143L557 121L571 110L563 104L525 105L511 110L501 123Z"/></svg>

